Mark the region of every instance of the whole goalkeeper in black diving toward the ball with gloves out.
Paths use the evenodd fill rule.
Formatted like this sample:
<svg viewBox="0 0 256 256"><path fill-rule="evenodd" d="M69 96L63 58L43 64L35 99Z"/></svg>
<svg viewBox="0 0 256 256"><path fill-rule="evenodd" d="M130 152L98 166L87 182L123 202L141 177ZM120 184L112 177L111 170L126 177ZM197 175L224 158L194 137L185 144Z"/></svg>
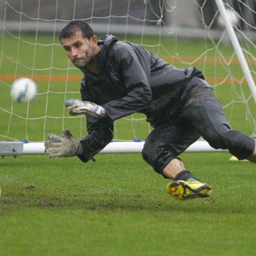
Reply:
<svg viewBox="0 0 256 256"><path fill-rule="evenodd" d="M93 159L110 143L115 120L144 113L154 128L142 156L155 172L170 179L167 190L176 199L209 197L212 188L187 170L178 156L200 136L216 149L256 163L255 140L234 131L214 91L197 68L177 69L142 46L113 35L98 40L86 22L74 20L59 39L67 57L84 73L82 99L69 99L71 115L84 114L88 135L74 138L49 134L50 157Z"/></svg>

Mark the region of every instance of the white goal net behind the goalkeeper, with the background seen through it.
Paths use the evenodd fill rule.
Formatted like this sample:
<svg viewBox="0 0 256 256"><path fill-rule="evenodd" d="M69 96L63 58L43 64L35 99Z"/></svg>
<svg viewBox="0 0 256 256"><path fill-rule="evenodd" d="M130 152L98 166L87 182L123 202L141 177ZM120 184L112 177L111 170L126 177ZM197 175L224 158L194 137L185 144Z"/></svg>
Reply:
<svg viewBox="0 0 256 256"><path fill-rule="evenodd" d="M221 1L222 2L222 1ZM223 1L254 83L254 0ZM171 65L200 69L234 129L256 134L255 95L213 0L0 0L0 140L43 142L69 129L86 135L84 116L69 116L63 102L80 99L82 73L65 56L59 31L71 20L88 22L99 37L141 44ZM10 97L12 82L37 84L34 101ZM145 140L152 131L142 114L115 122L114 140Z"/></svg>

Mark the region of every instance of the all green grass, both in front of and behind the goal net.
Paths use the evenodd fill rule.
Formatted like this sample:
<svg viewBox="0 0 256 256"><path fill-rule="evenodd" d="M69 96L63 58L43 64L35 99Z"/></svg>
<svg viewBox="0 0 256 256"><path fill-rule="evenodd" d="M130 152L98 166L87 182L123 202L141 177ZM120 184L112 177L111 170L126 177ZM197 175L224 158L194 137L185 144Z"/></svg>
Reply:
<svg viewBox="0 0 256 256"><path fill-rule="evenodd" d="M21 38L0 38L1 75L81 75L67 69L57 40L53 46L52 37L39 35L35 47L32 35ZM155 45L146 47L169 57L178 52L179 57L195 59L212 48L204 41L127 40ZM233 54L229 45L220 50L227 58ZM214 56L214 49L207 53ZM216 65L205 65L202 59L193 64L170 62L177 67L197 65L209 77L228 73L219 59ZM230 69L242 76L236 63ZM10 101L11 84L0 79L0 140L46 140L47 133L60 134L63 128L77 137L86 133L84 118L70 118L63 106L64 99L80 97L78 82L38 81L39 95L29 106ZM249 95L244 84L224 83L215 91L223 104ZM248 106L255 120L252 99ZM235 129L248 135L255 131L244 103L233 103L225 112ZM116 121L115 138L146 138L151 128L144 120L131 118L144 116ZM229 153L182 155L188 170L214 189L212 197L189 202L170 198L168 181L155 174L140 154L97 155L96 163L87 164L76 157L44 155L0 159L0 255L255 255L255 165L230 162L229 157Z"/></svg>

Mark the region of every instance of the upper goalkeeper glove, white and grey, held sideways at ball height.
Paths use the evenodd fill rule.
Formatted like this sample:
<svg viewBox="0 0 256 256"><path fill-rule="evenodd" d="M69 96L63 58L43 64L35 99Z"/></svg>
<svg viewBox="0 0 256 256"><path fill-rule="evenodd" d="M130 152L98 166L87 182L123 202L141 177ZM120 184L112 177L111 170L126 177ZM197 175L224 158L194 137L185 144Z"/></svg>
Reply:
<svg viewBox="0 0 256 256"><path fill-rule="evenodd" d="M102 106L99 106L90 101L80 101L80 99L67 99L65 106L69 109L71 116L78 114L85 114L91 118L99 119L106 116L105 110Z"/></svg>

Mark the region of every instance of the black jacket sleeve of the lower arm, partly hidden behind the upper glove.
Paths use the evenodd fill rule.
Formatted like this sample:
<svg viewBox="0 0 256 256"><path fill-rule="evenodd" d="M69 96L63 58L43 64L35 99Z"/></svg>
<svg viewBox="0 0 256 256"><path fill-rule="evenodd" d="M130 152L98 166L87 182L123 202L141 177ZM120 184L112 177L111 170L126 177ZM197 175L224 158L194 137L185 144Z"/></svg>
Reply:
<svg viewBox="0 0 256 256"><path fill-rule="evenodd" d="M81 84L81 95L83 101L90 101L88 93L84 88L85 80ZM96 120L86 117L88 135L80 139L83 147L82 155L78 155L81 161L87 162L99 153L113 138L113 121L110 118Z"/></svg>

